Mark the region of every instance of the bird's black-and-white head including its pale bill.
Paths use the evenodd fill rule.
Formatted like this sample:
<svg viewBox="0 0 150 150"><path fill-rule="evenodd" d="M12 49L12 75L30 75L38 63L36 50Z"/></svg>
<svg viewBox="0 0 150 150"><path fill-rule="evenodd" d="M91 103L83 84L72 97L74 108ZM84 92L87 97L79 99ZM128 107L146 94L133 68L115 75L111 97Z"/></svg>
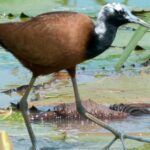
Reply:
<svg viewBox="0 0 150 150"><path fill-rule="evenodd" d="M150 28L149 24L134 16L127 7L116 3L103 6L98 18L101 18L104 21L107 21L118 27L126 23L136 23Z"/></svg>

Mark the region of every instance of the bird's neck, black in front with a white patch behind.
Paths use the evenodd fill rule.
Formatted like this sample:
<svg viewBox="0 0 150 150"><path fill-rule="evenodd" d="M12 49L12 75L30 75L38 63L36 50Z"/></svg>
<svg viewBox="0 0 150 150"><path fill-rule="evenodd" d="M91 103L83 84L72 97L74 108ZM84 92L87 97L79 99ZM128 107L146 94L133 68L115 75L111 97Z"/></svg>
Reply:
<svg viewBox="0 0 150 150"><path fill-rule="evenodd" d="M102 19L97 19L88 50L88 58L93 58L109 48L115 38L116 32L116 26Z"/></svg>

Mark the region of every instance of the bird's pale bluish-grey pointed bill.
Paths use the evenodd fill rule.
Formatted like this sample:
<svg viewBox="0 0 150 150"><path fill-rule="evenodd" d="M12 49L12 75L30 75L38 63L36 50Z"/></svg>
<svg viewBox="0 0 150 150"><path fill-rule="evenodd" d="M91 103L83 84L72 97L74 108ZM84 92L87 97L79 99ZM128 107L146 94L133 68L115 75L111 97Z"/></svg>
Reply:
<svg viewBox="0 0 150 150"><path fill-rule="evenodd" d="M150 24L146 23L144 20L130 14L130 16L128 16L128 20L132 23L136 23L139 24L141 26L144 26L146 28L150 28Z"/></svg>

